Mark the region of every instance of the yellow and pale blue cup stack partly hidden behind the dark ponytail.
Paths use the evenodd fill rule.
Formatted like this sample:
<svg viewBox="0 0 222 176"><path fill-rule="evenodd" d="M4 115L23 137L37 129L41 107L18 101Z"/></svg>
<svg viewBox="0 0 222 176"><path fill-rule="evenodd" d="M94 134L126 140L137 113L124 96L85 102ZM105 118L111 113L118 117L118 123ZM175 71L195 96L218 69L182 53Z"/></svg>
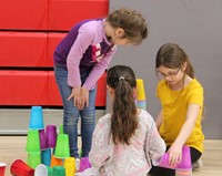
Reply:
<svg viewBox="0 0 222 176"><path fill-rule="evenodd" d="M145 103L145 89L143 84L143 80L137 79L137 106L140 108L145 110L147 108L147 103Z"/></svg>

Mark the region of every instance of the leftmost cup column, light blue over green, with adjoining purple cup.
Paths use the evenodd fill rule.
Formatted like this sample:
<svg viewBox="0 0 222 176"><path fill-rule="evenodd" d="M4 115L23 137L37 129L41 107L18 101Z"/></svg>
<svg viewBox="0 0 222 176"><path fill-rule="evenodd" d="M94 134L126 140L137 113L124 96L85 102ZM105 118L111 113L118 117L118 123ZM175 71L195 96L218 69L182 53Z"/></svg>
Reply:
<svg viewBox="0 0 222 176"><path fill-rule="evenodd" d="M41 106L32 106L27 138L28 165L36 168L41 163L40 149L46 149L44 123Z"/></svg>

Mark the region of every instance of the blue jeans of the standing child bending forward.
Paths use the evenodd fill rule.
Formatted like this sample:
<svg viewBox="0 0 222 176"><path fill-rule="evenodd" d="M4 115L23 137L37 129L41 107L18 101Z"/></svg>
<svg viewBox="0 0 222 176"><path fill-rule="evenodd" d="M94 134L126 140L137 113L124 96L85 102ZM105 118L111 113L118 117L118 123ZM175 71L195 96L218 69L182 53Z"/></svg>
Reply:
<svg viewBox="0 0 222 176"><path fill-rule="evenodd" d="M81 73L81 81L84 83L90 71ZM78 152L78 121L81 117L82 157L88 156L91 149L92 133L95 126L95 95L97 87L89 92L89 107L84 106L79 111L73 105L73 99L67 101L72 87L67 84L68 70L62 66L54 66L54 76L63 103L63 131L69 135L70 155L79 157Z"/></svg>

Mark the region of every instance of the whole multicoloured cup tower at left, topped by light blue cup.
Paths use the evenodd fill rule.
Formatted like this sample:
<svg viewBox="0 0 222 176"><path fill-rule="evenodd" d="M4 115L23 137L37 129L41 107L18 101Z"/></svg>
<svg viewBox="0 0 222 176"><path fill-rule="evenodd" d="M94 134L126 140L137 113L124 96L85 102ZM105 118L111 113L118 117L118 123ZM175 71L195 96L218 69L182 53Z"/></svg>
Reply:
<svg viewBox="0 0 222 176"><path fill-rule="evenodd" d="M56 125L44 128L41 106L32 106L27 137L27 164L36 169L44 165L48 176L73 176L75 159L70 157L69 137L60 125L57 134Z"/></svg>

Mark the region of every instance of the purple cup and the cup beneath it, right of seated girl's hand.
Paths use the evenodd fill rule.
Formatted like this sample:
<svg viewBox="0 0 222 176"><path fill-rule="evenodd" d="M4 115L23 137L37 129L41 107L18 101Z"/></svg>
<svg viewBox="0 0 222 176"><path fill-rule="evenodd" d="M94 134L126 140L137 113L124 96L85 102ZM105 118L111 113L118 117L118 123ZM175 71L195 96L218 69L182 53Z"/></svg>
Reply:
<svg viewBox="0 0 222 176"><path fill-rule="evenodd" d="M175 168L175 176L192 176L191 152L189 146L183 146L182 162Z"/></svg>

